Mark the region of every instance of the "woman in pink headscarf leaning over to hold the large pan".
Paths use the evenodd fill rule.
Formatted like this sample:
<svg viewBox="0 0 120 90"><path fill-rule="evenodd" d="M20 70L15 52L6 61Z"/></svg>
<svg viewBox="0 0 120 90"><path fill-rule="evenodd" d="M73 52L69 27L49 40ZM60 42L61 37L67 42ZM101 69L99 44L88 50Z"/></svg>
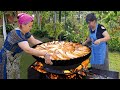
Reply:
<svg viewBox="0 0 120 90"><path fill-rule="evenodd" d="M19 28L8 33L0 50L0 79L20 79L19 59L23 51L35 56L44 56L46 64L52 64L47 52L38 51L29 46L28 41L33 45L42 43L30 34L33 20L33 17L28 14L18 15Z"/></svg>

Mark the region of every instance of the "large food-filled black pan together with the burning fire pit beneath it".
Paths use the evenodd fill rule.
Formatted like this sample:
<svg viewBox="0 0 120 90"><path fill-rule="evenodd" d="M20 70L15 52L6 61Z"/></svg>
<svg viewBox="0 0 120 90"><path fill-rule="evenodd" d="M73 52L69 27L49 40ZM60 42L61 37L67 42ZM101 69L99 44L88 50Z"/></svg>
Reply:
<svg viewBox="0 0 120 90"><path fill-rule="evenodd" d="M88 68L91 49L79 43L53 41L37 44L33 48L47 50L52 54L52 65L44 57L33 57L36 61L28 68L28 79L118 79L114 71Z"/></svg>

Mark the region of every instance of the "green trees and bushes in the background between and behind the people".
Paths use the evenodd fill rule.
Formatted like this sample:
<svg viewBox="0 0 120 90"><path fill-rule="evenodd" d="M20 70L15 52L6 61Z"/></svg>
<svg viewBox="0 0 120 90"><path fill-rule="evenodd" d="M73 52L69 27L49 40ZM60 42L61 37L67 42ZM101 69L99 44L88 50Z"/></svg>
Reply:
<svg viewBox="0 0 120 90"><path fill-rule="evenodd" d="M89 36L89 30L85 17L88 13L94 12L98 23L105 26L111 36L108 42L109 49L120 51L120 11L56 11L56 23L54 23L54 11L24 11L34 14L34 25L31 32L38 37L54 38L54 40L68 40L73 42L84 42ZM42 17L40 19L36 12ZM12 13L12 12L7 12ZM0 11L0 17L3 11ZM56 30L54 27L56 26Z"/></svg>

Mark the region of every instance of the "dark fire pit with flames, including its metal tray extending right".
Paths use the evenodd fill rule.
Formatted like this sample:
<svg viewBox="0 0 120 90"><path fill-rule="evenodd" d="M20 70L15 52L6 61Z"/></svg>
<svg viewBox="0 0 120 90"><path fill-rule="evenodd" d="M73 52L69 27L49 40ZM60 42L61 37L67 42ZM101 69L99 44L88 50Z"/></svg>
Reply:
<svg viewBox="0 0 120 90"><path fill-rule="evenodd" d="M71 70L56 70L52 73L44 69L41 62L36 61L28 68L28 79L119 79L119 72L90 69L89 59L81 63L77 68Z"/></svg>

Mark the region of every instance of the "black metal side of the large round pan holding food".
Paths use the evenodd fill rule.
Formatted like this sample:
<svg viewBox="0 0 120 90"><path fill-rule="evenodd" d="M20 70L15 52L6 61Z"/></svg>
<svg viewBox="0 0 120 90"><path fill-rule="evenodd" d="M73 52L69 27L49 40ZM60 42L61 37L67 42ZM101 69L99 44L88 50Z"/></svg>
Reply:
<svg viewBox="0 0 120 90"><path fill-rule="evenodd" d="M42 44L42 43L41 43ZM40 44L37 44L40 45ZM34 45L32 48L35 48L37 45ZM89 47L88 47L89 48ZM90 48L89 48L90 49ZM91 55L91 52L88 53L87 55L75 59L70 59L70 60L52 60L53 65L48 65L45 64L45 59L37 57L32 55L36 61L41 62L45 64L47 67L55 67L56 69L70 69L70 68L76 68L78 65L80 65L84 60L88 59Z"/></svg>

